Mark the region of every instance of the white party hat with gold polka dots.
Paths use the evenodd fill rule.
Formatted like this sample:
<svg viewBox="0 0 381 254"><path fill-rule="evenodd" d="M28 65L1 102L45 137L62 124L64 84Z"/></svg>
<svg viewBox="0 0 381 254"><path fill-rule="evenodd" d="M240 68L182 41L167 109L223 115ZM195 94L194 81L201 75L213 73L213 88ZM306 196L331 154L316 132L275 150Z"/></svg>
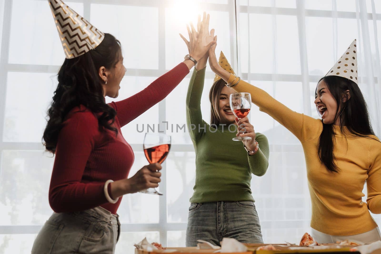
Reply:
<svg viewBox="0 0 381 254"><path fill-rule="evenodd" d="M359 80L357 79L357 47L356 40L347 48L345 53L339 58L337 63L328 71L325 76L339 76L352 80L357 85Z"/></svg>

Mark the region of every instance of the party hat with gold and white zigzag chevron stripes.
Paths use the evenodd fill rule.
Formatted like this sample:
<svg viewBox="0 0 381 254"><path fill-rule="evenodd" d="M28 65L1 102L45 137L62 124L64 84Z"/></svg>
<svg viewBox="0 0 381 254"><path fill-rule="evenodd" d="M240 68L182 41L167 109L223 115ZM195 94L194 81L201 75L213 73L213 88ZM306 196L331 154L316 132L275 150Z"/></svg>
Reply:
<svg viewBox="0 0 381 254"><path fill-rule="evenodd" d="M104 34L61 0L48 0L66 58L75 58L96 48Z"/></svg>

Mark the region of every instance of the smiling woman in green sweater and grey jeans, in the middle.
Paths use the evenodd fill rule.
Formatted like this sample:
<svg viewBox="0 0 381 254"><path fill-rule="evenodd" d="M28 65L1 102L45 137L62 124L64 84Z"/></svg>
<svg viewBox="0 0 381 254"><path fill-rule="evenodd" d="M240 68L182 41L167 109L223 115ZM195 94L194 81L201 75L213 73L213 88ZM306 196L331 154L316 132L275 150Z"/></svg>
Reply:
<svg viewBox="0 0 381 254"><path fill-rule="evenodd" d="M205 15L203 23L208 29ZM189 48L197 32L193 27L188 32L190 42L181 37ZM196 151L196 179L190 199L186 246L196 246L197 240L220 245L224 237L243 243L263 243L250 180L251 174L262 176L266 173L269 144L263 134L254 132L247 117L242 121L246 135L252 139L245 140L244 144L232 140L239 134L238 119L229 104L230 94L235 91L226 87L226 82L218 76L209 94L210 124L203 121L200 102L207 59L208 56L204 56L195 66L186 99L187 126ZM233 73L222 52L221 61Z"/></svg>

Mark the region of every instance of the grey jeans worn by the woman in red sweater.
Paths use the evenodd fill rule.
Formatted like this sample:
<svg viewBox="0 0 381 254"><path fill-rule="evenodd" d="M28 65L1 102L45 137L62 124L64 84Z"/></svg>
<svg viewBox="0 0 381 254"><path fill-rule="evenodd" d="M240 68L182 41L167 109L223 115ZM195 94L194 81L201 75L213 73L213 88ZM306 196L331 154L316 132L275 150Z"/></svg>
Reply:
<svg viewBox="0 0 381 254"><path fill-rule="evenodd" d="M32 254L114 253L120 235L118 217L100 206L53 213L38 233Z"/></svg>

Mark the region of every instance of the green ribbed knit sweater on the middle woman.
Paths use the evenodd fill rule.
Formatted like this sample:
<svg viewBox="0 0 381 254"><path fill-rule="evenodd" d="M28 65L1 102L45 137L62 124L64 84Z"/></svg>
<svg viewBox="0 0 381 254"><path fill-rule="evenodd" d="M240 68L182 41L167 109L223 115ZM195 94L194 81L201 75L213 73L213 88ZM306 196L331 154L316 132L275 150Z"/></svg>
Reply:
<svg viewBox="0 0 381 254"><path fill-rule="evenodd" d="M254 201L251 196L251 173L262 176L269 166L269 143L256 133L259 151L248 156L241 141L233 141L236 125L210 126L202 120L201 95L205 68L194 69L186 99L187 126L196 152L194 203L216 201ZM205 129L204 129L205 127Z"/></svg>

